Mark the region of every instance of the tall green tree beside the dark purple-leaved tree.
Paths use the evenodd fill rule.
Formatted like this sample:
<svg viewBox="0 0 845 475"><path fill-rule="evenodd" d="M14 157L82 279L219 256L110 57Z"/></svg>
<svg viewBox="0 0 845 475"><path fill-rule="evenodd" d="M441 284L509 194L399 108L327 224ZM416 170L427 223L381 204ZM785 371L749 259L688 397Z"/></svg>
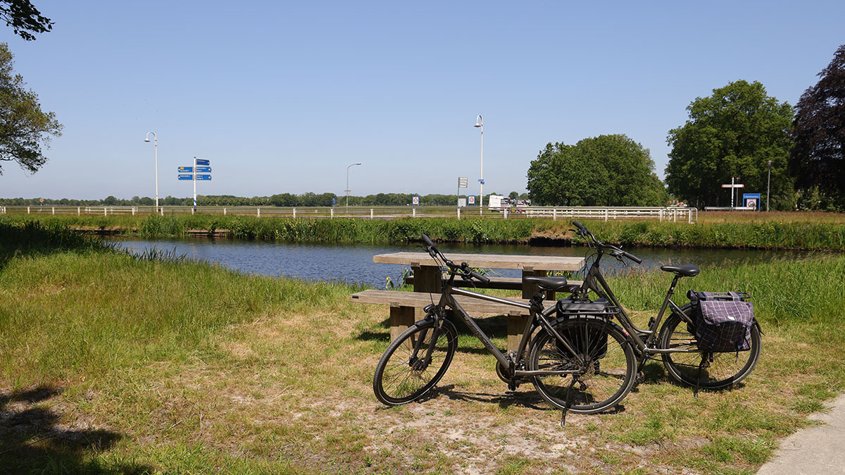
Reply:
<svg viewBox="0 0 845 475"><path fill-rule="evenodd" d="M792 106L767 96L757 81L739 80L714 89L712 96L696 97L687 111L690 118L667 137L669 193L699 208L728 205L730 194L722 184L739 177L746 191L759 191L765 200L771 161L771 205L792 206L787 172Z"/></svg>

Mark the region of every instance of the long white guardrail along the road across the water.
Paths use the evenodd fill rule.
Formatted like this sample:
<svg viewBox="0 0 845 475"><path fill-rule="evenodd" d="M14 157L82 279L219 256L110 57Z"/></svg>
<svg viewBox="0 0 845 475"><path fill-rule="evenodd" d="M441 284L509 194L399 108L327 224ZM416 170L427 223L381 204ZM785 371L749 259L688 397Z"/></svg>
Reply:
<svg viewBox="0 0 845 475"><path fill-rule="evenodd" d="M0 206L0 214L25 215L76 215L76 216L135 216L135 215L235 215L258 217L294 218L369 218L399 219L406 217L476 217L520 219L544 217L553 220L563 218L599 219L602 221L624 219L653 219L658 221L698 221L698 210L679 206L602 207L581 206L560 208L557 206L533 206L480 212L477 208L455 208L455 206Z"/></svg>

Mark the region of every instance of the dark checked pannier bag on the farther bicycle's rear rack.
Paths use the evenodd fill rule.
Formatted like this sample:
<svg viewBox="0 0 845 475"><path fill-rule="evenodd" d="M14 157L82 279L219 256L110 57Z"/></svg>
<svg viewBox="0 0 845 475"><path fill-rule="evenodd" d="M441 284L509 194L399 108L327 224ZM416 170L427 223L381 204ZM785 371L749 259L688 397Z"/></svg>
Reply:
<svg viewBox="0 0 845 475"><path fill-rule="evenodd" d="M745 352L751 349L754 305L739 292L687 293L698 348L706 352Z"/></svg>

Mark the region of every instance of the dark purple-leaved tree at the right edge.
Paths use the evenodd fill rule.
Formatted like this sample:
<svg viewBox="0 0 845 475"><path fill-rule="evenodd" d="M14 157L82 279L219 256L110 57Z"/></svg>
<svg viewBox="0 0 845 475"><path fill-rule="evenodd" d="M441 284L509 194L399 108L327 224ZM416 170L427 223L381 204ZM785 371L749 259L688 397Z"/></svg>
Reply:
<svg viewBox="0 0 845 475"><path fill-rule="evenodd" d="M845 45L795 106L795 147L789 169L802 194L820 194L829 206L845 207ZM814 190L813 188L817 188Z"/></svg>

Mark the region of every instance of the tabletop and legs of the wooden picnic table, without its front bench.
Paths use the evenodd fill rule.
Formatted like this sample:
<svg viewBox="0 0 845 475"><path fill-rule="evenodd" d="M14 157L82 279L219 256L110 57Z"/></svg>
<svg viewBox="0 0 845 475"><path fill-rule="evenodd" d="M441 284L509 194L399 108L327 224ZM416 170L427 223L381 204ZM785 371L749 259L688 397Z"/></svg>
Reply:
<svg viewBox="0 0 845 475"><path fill-rule="evenodd" d="M558 270L579 270L584 265L584 258L570 256L550 255L517 255L517 254L455 254L446 255L455 264L466 262L470 267L481 269L518 269L522 270L522 276L548 276L548 272ZM377 254L373 256L376 264L399 264L410 265L413 271L414 292L426 292L437 294L443 290L443 272L437 261L432 259L428 253L401 252L391 254ZM501 279L504 284L509 279ZM510 279L512 280L512 279ZM575 282L573 282L575 283ZM577 282L580 283L580 282ZM497 287L497 279L491 279L490 288L512 288L504 285ZM479 285L479 287L485 287ZM523 283L521 285L522 298L532 298L537 292L537 286ZM372 292L372 291L367 291ZM547 300L554 300L554 292L547 292ZM430 299L429 299L430 300ZM436 300L435 300L436 301ZM376 302L372 302L376 303ZM528 321L529 316L525 312L512 312L508 310L508 349L516 349L522 330ZM401 306L395 311L391 309L391 335L398 335L399 330L412 325L417 319L424 316L423 308L415 306L414 309Z"/></svg>

